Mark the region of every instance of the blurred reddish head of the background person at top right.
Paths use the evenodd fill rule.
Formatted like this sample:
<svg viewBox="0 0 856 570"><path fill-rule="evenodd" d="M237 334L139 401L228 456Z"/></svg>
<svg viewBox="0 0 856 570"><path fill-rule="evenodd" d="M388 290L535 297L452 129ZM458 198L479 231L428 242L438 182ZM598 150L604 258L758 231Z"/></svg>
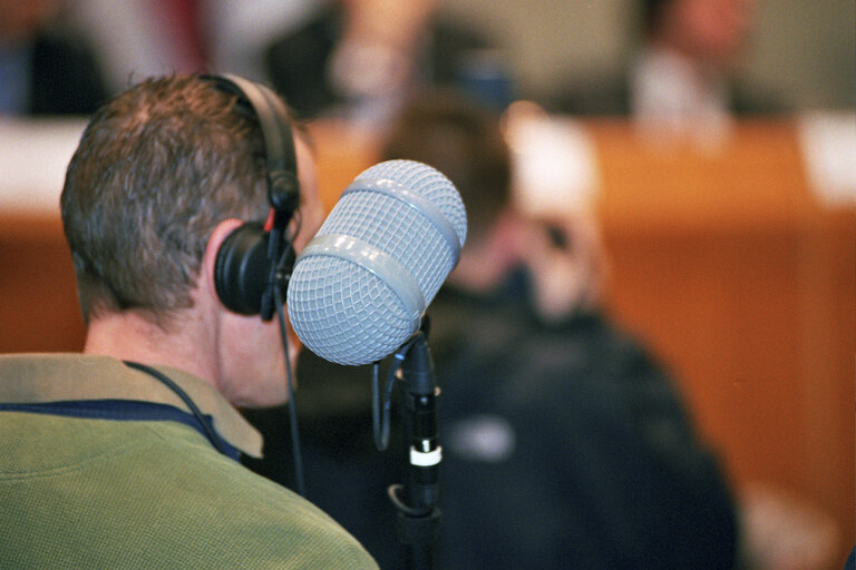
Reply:
<svg viewBox="0 0 856 570"><path fill-rule="evenodd" d="M648 42L729 71L752 30L756 0L642 0Z"/></svg>

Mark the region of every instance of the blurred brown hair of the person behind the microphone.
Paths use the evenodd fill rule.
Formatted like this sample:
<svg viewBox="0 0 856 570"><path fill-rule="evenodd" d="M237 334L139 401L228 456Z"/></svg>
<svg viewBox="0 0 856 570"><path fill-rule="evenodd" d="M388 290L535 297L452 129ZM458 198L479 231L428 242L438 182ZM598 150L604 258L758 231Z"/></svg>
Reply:
<svg viewBox="0 0 856 570"><path fill-rule="evenodd" d="M451 90L417 95L401 110L383 148L445 174L467 206L468 240L479 240L510 202L510 155L499 117Z"/></svg>

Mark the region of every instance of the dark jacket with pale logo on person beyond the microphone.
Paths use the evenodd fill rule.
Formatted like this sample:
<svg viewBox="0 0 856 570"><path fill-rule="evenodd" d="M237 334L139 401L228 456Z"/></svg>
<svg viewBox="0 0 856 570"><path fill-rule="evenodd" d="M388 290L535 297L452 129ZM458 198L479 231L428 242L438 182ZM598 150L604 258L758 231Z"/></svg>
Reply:
<svg viewBox="0 0 856 570"><path fill-rule="evenodd" d="M447 286L429 308L444 446L437 568L731 568L728 481L670 379L603 315L548 326L527 296L518 274L490 296ZM368 368L310 353L300 364L311 499L381 568L405 568L386 498L401 452L372 448Z"/></svg>

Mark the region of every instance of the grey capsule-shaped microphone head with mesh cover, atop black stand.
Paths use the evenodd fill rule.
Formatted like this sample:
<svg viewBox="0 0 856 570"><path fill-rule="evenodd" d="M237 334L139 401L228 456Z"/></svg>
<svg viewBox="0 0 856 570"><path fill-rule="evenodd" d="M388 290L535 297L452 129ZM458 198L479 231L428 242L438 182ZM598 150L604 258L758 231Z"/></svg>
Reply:
<svg viewBox="0 0 856 570"><path fill-rule="evenodd" d="M467 215L455 186L414 160L388 160L344 189L289 281L292 327L338 364L377 362L419 330L455 268Z"/></svg>

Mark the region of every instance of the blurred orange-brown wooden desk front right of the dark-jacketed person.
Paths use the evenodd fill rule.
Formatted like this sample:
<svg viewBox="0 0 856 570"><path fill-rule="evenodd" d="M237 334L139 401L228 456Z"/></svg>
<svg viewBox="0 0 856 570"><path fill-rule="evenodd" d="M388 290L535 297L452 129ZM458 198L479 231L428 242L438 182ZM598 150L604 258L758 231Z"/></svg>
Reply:
<svg viewBox="0 0 856 570"><path fill-rule="evenodd" d="M791 124L745 122L718 154L590 125L612 257L609 306L675 372L735 485L761 482L854 543L856 212L807 188Z"/></svg>

